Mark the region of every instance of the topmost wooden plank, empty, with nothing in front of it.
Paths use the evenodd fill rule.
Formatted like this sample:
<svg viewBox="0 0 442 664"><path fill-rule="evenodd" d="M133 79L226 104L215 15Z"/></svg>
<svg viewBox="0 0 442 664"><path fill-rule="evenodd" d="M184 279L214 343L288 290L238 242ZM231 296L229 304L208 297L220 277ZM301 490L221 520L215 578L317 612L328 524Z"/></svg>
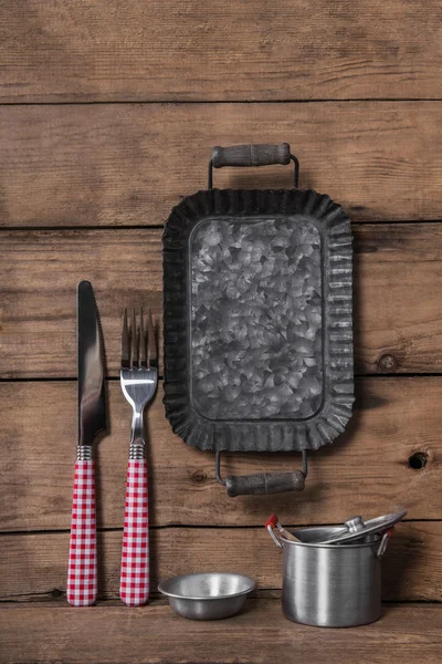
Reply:
<svg viewBox="0 0 442 664"><path fill-rule="evenodd" d="M436 0L3 0L3 102L442 96Z"/></svg>

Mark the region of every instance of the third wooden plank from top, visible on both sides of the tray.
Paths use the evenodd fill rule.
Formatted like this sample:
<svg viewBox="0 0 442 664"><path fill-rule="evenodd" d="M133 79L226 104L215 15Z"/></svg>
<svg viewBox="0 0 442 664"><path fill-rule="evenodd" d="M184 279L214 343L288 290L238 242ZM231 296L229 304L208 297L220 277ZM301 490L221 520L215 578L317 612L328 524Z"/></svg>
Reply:
<svg viewBox="0 0 442 664"><path fill-rule="evenodd" d="M442 225L355 227L358 373L442 371ZM160 230L2 231L1 377L76 375L76 284L93 282L109 375L118 375L122 312L161 319Z"/></svg>

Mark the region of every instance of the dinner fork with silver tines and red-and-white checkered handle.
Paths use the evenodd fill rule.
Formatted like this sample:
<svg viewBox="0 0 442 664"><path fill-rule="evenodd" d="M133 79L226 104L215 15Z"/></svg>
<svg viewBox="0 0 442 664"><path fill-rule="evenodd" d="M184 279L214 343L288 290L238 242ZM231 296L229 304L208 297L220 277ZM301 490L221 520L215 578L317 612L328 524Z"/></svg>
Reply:
<svg viewBox="0 0 442 664"><path fill-rule="evenodd" d="M130 325L128 324L130 319ZM140 606L149 596L149 520L147 505L147 464L143 414L158 383L158 351L150 309L147 335L143 308L124 313L120 384L133 407L131 436L126 481L119 596L128 606Z"/></svg>

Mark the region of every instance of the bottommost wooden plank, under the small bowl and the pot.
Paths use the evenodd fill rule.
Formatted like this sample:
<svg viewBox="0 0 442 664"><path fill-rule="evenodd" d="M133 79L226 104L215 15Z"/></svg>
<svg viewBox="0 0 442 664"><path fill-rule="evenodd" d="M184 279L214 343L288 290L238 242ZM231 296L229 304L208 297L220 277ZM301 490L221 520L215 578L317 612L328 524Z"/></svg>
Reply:
<svg viewBox="0 0 442 664"><path fill-rule="evenodd" d="M44 604L3 605L0 661L11 664L436 664L442 608L392 604L377 623L357 630L318 630L283 618L277 600L249 600L224 621L187 621L169 606L96 606L78 611ZM25 625L25 629L23 629Z"/></svg>

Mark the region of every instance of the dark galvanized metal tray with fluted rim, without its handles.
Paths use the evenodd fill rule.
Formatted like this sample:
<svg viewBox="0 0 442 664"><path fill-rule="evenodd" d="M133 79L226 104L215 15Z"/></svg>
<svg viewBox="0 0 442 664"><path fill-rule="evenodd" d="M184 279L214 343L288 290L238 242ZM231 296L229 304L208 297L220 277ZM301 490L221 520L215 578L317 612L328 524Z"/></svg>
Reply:
<svg viewBox="0 0 442 664"><path fill-rule="evenodd" d="M165 405L178 435L201 449L301 452L345 429L351 256L349 219L316 191L213 189L172 210Z"/></svg>

